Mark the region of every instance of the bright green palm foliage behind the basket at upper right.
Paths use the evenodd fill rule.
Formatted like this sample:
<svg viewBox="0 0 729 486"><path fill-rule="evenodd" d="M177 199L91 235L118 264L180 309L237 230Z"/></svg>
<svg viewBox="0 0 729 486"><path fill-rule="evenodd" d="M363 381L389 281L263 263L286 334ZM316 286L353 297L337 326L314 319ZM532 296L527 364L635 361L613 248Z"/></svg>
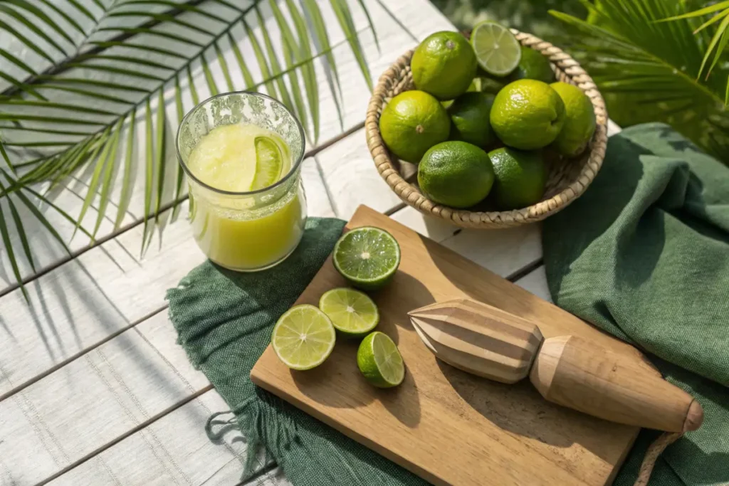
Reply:
<svg viewBox="0 0 729 486"><path fill-rule="evenodd" d="M590 10L592 23L550 13L574 29L569 50L606 95L611 117L625 126L666 122L728 160L724 82L729 72L726 66L714 63L714 75L701 76L708 61L704 60L702 40L694 34L697 19L686 15L685 5L666 0L583 4ZM669 18L673 20L662 22ZM722 37L720 34L710 45L722 47Z"/></svg>

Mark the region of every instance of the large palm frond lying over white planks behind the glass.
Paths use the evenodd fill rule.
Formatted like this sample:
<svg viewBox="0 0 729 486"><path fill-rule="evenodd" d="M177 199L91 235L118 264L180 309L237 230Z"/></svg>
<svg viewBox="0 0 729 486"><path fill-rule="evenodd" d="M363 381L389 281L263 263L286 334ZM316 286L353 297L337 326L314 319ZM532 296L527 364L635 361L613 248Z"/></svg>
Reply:
<svg viewBox="0 0 729 486"><path fill-rule="evenodd" d="M19 257L28 259L31 270L36 270L29 253L28 224L17 216L20 205L33 205L34 198L73 222L93 242L110 211L112 197L117 197L112 221L114 230L119 230L137 193L137 147L143 149L143 214L138 217L144 221L144 254L152 226L161 232L163 218L169 217L168 213L163 216L163 211L172 205L172 217L176 218L179 203L186 197L184 173L179 167L167 176L166 161L169 151L174 150L169 146L167 125L174 119L179 123L184 111L200 102L200 93L265 90L297 114L316 143L321 97L315 60L326 60L324 71L338 111L341 88L332 53L335 47L348 44L371 87L367 60L346 0L330 0L332 19L345 36L336 44L330 40L316 0L237 3L0 2L0 29L14 40L12 47L0 48L0 59L10 68L0 71L0 171L7 181L0 188L0 205L5 201L4 208L0 206L0 211L5 211L0 214L0 236L8 248L18 286L23 281ZM356 4L364 8L362 1ZM372 28L366 8L364 15ZM241 42L249 43L250 57L243 55ZM16 50L18 47L26 54ZM214 70L222 77L216 77ZM185 106L187 97L192 105ZM175 115L165 111L168 103L174 103ZM49 198L48 191L66 184L69 177L90 178L84 182L85 193L81 194L76 217ZM120 192L113 190L117 179ZM47 184L46 192L34 188L37 184ZM92 205L98 214L89 231L81 222ZM31 208L28 211L61 241L47 220L39 218L42 213ZM12 251L9 246L15 232L20 235L16 240L20 246Z"/></svg>

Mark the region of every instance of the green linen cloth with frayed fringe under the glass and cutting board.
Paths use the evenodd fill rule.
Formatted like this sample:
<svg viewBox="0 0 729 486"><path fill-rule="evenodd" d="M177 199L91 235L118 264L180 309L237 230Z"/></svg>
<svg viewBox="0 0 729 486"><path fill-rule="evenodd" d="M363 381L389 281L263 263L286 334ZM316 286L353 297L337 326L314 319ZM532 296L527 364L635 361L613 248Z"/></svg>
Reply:
<svg viewBox="0 0 729 486"><path fill-rule="evenodd" d="M295 486L427 485L249 379L273 324L319 271L343 227L339 219L310 218L296 251L263 272L201 264L168 290L169 315L192 364L235 412L248 440L246 473L258 469L262 445Z"/></svg>

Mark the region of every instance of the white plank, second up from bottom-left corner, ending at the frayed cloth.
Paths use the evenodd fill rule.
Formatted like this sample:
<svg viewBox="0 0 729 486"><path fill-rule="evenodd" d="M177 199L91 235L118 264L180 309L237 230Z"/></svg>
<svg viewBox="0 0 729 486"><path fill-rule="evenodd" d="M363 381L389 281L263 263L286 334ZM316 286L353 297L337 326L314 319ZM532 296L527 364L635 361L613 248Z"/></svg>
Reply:
<svg viewBox="0 0 729 486"><path fill-rule="evenodd" d="M42 482L209 388L170 345L166 321L158 313L0 402L0 457L11 482ZM160 340L166 356L152 345Z"/></svg>

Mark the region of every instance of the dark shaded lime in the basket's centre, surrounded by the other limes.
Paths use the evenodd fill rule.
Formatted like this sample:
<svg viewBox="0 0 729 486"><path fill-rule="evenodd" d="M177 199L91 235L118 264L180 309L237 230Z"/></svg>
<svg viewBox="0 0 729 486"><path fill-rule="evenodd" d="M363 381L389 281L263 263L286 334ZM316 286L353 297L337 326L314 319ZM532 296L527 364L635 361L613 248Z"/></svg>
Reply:
<svg viewBox="0 0 729 486"><path fill-rule="evenodd" d="M451 115L451 140L462 140L485 147L494 141L491 131L491 105L494 95L488 93L464 93L448 107Z"/></svg>

